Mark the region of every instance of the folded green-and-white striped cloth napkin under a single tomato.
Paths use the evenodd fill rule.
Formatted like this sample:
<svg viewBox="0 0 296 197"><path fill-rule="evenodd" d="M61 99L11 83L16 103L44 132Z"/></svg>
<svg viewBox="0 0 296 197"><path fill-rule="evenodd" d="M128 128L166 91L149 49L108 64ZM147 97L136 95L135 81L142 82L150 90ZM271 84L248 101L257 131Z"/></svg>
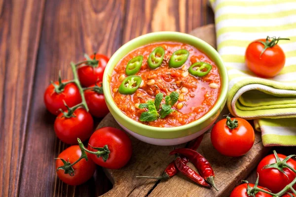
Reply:
<svg viewBox="0 0 296 197"><path fill-rule="evenodd" d="M296 0L210 0L218 52L228 70L227 106L233 116L255 119L264 146L296 146ZM245 66L248 44L266 36L288 37L279 46L286 64L263 79Z"/></svg>

